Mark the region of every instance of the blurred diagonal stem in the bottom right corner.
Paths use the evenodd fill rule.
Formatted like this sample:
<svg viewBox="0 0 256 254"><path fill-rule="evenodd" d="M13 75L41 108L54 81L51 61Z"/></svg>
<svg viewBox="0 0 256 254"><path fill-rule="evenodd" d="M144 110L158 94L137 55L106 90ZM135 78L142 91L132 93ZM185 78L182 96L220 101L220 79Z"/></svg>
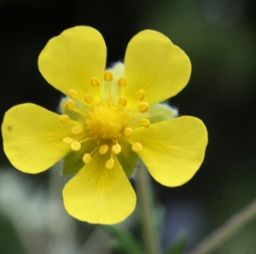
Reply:
<svg viewBox="0 0 256 254"><path fill-rule="evenodd" d="M229 221L213 232L206 240L195 246L192 251L187 254L207 254L216 251L224 241L229 240L233 234L236 234L243 226L256 217L256 199L232 216Z"/></svg>

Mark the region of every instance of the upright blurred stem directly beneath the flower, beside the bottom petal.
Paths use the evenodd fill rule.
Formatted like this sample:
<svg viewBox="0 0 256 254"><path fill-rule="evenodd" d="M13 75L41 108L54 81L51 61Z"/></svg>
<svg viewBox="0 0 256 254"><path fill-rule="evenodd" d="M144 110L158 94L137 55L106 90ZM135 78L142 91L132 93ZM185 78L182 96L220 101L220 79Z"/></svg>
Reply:
<svg viewBox="0 0 256 254"><path fill-rule="evenodd" d="M144 245L147 249L146 253L160 254L160 245L153 216L150 178L148 176L148 170L145 168L142 161L139 162L137 170L137 195L142 215Z"/></svg>

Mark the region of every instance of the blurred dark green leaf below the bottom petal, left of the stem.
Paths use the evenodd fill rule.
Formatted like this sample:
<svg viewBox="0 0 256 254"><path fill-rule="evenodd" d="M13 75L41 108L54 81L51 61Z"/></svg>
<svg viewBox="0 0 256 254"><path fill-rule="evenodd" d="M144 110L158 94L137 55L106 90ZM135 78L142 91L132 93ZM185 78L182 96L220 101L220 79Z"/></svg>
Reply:
<svg viewBox="0 0 256 254"><path fill-rule="evenodd" d="M116 226L105 226L116 240L113 249L127 254L144 254L143 246L128 231Z"/></svg>

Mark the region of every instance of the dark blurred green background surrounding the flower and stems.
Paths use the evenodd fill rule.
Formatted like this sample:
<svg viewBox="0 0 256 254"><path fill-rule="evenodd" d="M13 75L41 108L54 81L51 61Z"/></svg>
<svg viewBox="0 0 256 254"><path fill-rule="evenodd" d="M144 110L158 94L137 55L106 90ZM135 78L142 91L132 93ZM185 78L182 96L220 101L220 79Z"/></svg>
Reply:
<svg viewBox="0 0 256 254"><path fill-rule="evenodd" d="M56 111L61 93L39 73L38 55L49 38L77 25L102 33L108 65L124 59L143 29L164 33L189 55L191 79L170 103L206 124L206 158L182 187L152 180L163 208L162 247L185 236L189 250L256 198L256 2L0 0L1 118L23 102ZM104 229L67 215L60 165L29 176L10 165L3 148L0 159L0 253L113 253ZM137 228L135 216L119 227ZM216 253L256 253L255 236L254 221Z"/></svg>

